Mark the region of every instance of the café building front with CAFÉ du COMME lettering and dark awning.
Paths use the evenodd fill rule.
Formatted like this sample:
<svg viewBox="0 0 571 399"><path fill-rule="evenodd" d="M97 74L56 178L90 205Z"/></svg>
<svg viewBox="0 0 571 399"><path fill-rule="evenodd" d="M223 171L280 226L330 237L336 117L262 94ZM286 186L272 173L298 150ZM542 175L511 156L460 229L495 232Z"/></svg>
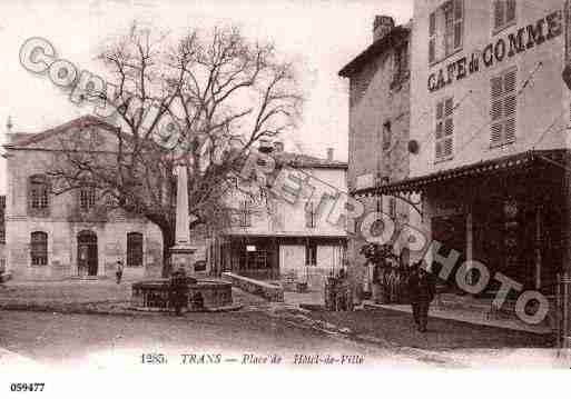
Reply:
<svg viewBox="0 0 571 399"><path fill-rule="evenodd" d="M414 2L416 151L410 177L382 191L422 196L410 220L439 242L426 255L436 272L478 261L492 277L550 295L569 263L567 8L560 0ZM447 287L457 289L454 278ZM499 287L490 279L481 293Z"/></svg>

